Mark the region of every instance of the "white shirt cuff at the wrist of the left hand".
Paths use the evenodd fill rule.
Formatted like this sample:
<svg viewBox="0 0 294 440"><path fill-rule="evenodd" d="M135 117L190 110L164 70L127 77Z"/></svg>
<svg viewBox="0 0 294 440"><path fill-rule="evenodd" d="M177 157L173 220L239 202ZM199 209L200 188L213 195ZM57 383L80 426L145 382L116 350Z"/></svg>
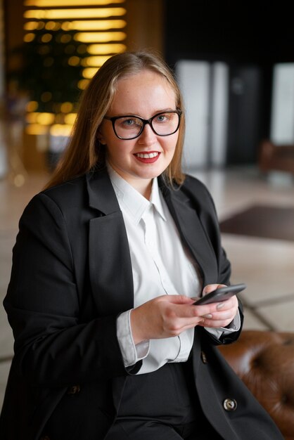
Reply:
<svg viewBox="0 0 294 440"><path fill-rule="evenodd" d="M131 330L131 310L124 311L117 317L117 339L122 352L124 366L129 367L143 358L149 353L149 341L142 341L134 344Z"/></svg>

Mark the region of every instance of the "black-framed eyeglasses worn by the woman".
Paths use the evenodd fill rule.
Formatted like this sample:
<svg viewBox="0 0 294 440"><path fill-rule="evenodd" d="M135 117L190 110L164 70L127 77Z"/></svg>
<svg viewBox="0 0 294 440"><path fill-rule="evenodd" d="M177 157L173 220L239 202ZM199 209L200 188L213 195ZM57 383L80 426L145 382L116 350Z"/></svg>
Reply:
<svg viewBox="0 0 294 440"><path fill-rule="evenodd" d="M150 119L143 119L134 115L105 116L104 119L108 119L113 123L113 131L117 138L129 140L140 136L146 124L149 124L158 136L174 134L179 129L181 113L181 110L168 110L167 112L157 113Z"/></svg>

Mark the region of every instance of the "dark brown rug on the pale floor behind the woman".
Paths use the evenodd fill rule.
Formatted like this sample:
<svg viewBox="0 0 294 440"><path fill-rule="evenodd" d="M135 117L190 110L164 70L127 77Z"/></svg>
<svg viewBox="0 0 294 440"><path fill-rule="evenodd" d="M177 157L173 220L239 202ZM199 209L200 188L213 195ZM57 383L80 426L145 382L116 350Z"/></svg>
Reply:
<svg viewBox="0 0 294 440"><path fill-rule="evenodd" d="M294 241L294 207L252 206L220 222L222 233Z"/></svg>

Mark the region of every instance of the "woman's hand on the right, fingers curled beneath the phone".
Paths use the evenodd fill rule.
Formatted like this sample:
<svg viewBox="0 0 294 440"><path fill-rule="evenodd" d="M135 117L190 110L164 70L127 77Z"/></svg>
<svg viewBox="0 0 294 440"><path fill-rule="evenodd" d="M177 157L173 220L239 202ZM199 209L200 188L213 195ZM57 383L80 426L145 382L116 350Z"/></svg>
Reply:
<svg viewBox="0 0 294 440"><path fill-rule="evenodd" d="M224 287L224 284L209 284L205 286L203 293L205 292L205 295L219 287ZM199 323L199 325L202 325L203 327L219 328L226 327L226 325L229 325L229 323L233 321L238 311L238 299L236 295L226 299L226 301L215 303L215 305L216 311L203 314L203 322ZM203 306L198 306L198 308L200 307Z"/></svg>

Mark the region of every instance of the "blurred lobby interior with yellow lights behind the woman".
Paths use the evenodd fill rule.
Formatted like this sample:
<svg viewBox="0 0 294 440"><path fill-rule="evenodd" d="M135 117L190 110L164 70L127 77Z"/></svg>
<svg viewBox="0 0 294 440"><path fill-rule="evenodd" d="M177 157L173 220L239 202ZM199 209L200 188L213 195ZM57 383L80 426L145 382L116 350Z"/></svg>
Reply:
<svg viewBox="0 0 294 440"><path fill-rule="evenodd" d="M0 0L0 299L18 219L114 53L155 48L186 106L184 169L210 189L245 328L294 330L294 27L288 3ZM0 407L13 337L0 307Z"/></svg>

